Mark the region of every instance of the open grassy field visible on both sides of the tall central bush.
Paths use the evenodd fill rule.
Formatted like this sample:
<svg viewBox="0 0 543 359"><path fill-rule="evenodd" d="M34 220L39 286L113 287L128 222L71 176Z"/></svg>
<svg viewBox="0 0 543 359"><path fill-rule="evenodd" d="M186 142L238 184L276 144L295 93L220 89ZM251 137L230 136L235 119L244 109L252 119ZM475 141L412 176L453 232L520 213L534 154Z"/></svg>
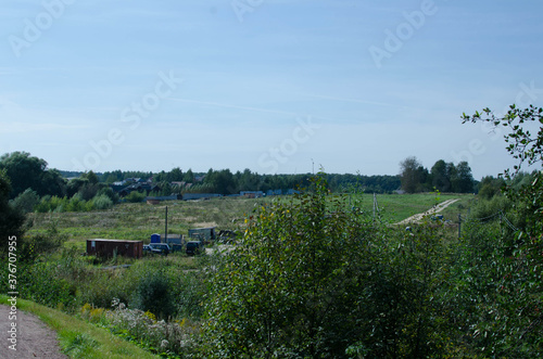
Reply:
<svg viewBox="0 0 543 359"><path fill-rule="evenodd" d="M458 213L466 214L473 196L468 194L378 194L381 218L397 222L422 213L434 204L451 198L458 202L443 211L445 219L456 222ZM168 207L168 233L187 234L190 228L217 227L236 229L243 218L272 201L290 201L290 196L268 198L214 198L210 201L165 202L161 205L124 203L113 209L89 213L31 214L29 233L45 232L51 223L68 236L68 244L84 248L87 239L142 240L149 242L152 233L164 233L165 207ZM345 206L357 206L372 215L374 195L343 195Z"/></svg>

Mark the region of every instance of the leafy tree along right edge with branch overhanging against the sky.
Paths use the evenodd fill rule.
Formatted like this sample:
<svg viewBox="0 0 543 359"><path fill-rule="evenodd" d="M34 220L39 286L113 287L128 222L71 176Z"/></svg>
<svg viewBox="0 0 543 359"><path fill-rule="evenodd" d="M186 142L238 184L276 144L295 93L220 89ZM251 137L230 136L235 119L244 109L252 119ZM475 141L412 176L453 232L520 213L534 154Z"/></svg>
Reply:
<svg viewBox="0 0 543 359"><path fill-rule="evenodd" d="M490 295L481 295L484 297L482 311L493 315L477 325L478 332L485 333L484 337L490 333L490 342L481 345L483 356L539 358L543 355L543 108L512 105L503 117L484 108L472 116L464 114L463 119L464 123L488 121L509 129L504 136L506 150L518 161L513 170L504 171L509 182L514 182L522 165L539 167L531 182L519 188L515 184L504 188L505 195L514 202L514 214L522 220L516 223L518 228L508 226L509 220L502 227L505 248L495 248L498 255L489 266L497 273L493 278L496 290L488 293ZM530 131L531 127L539 129ZM492 318L496 319L492 322Z"/></svg>

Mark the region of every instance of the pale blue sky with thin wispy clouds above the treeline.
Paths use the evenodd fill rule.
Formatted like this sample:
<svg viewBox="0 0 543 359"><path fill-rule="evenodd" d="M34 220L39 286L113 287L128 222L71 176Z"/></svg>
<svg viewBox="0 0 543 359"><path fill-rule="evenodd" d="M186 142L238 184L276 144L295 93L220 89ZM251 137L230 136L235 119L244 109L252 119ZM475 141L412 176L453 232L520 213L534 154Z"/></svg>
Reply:
<svg viewBox="0 0 543 359"><path fill-rule="evenodd" d="M0 153L65 170L395 175L514 163L462 113L542 105L541 1L45 0L0 10Z"/></svg>

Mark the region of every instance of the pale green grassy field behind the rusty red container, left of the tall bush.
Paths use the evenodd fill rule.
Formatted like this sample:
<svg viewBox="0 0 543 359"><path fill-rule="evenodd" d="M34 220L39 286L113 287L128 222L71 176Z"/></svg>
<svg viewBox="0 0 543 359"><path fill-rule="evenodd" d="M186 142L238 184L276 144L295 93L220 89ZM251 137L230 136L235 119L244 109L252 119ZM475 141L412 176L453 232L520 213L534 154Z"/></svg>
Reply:
<svg viewBox="0 0 543 359"><path fill-rule="evenodd" d="M164 233L166 206L168 233L187 234L190 228L232 229L260 203L244 198L172 201L156 206L124 203L102 211L31 214L29 233L45 232L54 223L61 233L67 234L68 243L98 238L149 242L151 234Z"/></svg>

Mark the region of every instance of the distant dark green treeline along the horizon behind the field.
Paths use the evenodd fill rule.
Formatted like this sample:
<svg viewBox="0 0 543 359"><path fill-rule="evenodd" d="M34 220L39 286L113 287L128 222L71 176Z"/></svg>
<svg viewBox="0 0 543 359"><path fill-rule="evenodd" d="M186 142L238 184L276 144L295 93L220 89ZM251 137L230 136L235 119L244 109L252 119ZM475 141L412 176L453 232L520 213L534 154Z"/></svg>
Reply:
<svg viewBox="0 0 543 359"><path fill-rule="evenodd" d="M365 176L353 174L327 174L329 190L336 193L365 192L392 193L404 190L408 193L432 191L478 192L478 182L471 176L467 163L458 165L438 161L429 171L415 157L401 163L397 176ZM91 201L97 195L110 197L115 204L118 195L125 196L121 189L132 183L144 183L137 191L140 195L171 195L182 193L238 194L240 191L277 191L282 193L308 185L312 174L261 175L250 169L232 172L230 169L213 169L206 172L182 170L179 167L169 171L124 171L75 172L49 169L45 159L26 152L13 152L0 156L0 170L11 182L10 198L14 200L25 191L31 191L33 198L56 196L80 201ZM489 179L487 179L488 181ZM29 192L27 195L29 196ZM35 201L31 201L35 202ZM101 202L100 206L104 206ZM89 205L90 206L90 205Z"/></svg>

